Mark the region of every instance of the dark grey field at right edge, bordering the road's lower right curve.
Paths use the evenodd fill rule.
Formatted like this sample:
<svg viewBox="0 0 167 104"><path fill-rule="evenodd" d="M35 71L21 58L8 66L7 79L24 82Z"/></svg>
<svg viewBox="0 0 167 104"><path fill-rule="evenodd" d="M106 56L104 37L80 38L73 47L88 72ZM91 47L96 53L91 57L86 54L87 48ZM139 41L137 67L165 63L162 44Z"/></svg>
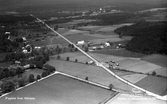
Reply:
<svg viewBox="0 0 167 104"><path fill-rule="evenodd" d="M153 93L164 95L167 90L167 78L147 76L137 82L136 85Z"/></svg>

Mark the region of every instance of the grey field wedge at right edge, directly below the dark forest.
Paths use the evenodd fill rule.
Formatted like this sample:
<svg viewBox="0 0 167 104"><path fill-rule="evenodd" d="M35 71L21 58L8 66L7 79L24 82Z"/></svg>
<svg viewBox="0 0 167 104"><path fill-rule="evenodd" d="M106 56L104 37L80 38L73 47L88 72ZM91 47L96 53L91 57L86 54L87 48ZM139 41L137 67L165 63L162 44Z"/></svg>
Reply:
<svg viewBox="0 0 167 104"><path fill-rule="evenodd" d="M167 56L165 55L152 54L143 57L142 60L154 63L156 65L160 65L162 67L167 67Z"/></svg>

